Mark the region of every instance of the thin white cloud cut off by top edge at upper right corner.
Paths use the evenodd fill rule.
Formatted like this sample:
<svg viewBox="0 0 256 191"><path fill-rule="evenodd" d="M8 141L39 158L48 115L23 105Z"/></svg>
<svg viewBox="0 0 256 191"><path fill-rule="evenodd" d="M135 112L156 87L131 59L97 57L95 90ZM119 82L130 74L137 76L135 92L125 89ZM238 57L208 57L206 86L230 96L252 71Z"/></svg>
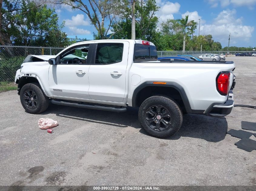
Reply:
<svg viewBox="0 0 256 191"><path fill-rule="evenodd" d="M234 6L247 6L248 8L252 9L253 6L256 4L256 0L208 0L209 4L212 8L221 5L221 7L226 7L228 5Z"/></svg>

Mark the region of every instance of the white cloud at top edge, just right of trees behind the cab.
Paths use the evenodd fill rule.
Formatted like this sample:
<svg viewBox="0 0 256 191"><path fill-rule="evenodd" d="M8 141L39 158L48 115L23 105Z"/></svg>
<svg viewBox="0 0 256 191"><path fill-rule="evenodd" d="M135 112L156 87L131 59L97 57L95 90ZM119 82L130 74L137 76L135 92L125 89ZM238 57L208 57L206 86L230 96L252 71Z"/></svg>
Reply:
<svg viewBox="0 0 256 191"><path fill-rule="evenodd" d="M159 18L160 23L167 19L174 19L173 14L178 13L181 5L178 2L172 3L169 1L157 1L157 5L160 6L156 16Z"/></svg>

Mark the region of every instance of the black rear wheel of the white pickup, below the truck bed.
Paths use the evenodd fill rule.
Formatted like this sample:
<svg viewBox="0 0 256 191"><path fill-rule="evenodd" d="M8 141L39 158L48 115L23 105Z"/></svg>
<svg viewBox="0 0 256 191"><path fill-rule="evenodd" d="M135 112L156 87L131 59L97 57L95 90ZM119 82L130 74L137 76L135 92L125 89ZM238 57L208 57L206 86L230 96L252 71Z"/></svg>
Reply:
<svg viewBox="0 0 256 191"><path fill-rule="evenodd" d="M160 115L158 115L157 112L159 112ZM157 116L155 116L155 114L157 114ZM157 120L155 120L156 117L158 117ZM182 125L183 114L175 101L163 96L152 96L141 104L138 119L143 129L149 135L157 138L166 138L178 132Z"/></svg>

